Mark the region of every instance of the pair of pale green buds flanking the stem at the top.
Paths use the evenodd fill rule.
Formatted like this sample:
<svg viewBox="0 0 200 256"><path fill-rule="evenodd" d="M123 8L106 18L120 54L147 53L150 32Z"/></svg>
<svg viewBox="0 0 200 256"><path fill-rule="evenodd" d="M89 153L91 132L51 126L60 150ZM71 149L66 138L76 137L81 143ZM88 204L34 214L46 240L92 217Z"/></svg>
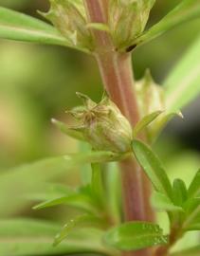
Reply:
<svg viewBox="0 0 200 256"><path fill-rule="evenodd" d="M66 38L69 46L93 52L93 29L104 30L114 48L127 51L142 34L155 0L107 0L105 24L91 23L83 0L49 0L51 8L43 14ZM95 1L95 0L94 0Z"/></svg>

